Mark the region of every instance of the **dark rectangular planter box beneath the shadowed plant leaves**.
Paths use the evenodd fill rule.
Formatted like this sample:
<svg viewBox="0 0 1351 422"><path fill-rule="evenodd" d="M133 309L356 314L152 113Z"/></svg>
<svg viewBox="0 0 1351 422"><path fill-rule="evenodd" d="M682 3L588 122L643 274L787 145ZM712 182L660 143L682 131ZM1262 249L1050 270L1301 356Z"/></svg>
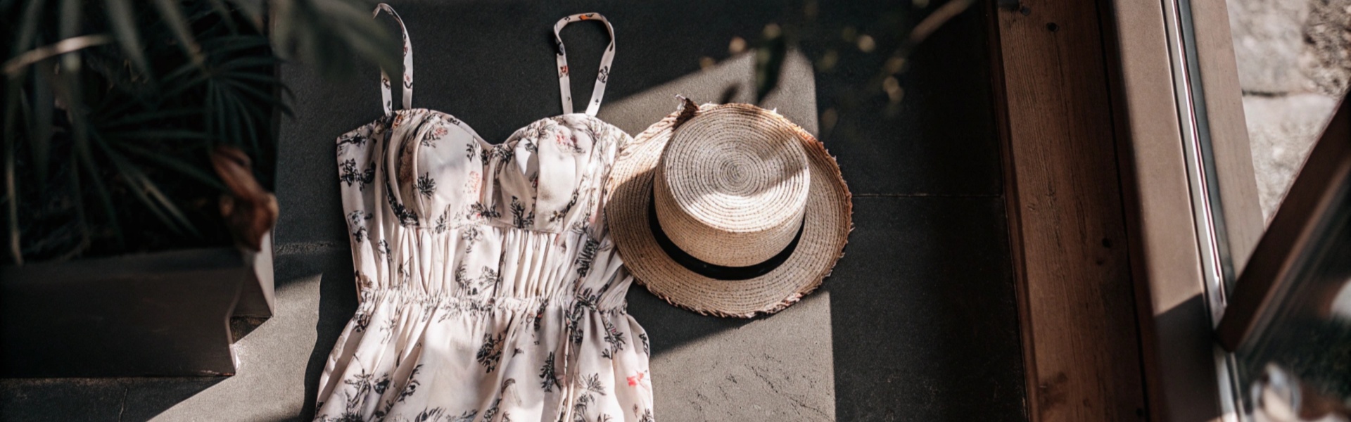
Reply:
<svg viewBox="0 0 1351 422"><path fill-rule="evenodd" d="M0 268L0 376L234 375L230 318L270 316L263 252L185 249Z"/></svg>

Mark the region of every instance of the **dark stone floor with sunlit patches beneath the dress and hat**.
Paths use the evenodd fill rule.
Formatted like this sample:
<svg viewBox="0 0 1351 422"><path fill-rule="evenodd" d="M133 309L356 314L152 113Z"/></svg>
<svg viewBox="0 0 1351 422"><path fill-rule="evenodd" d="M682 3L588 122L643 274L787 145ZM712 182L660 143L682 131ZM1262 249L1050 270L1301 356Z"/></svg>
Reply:
<svg viewBox="0 0 1351 422"><path fill-rule="evenodd" d="M617 46L600 116L631 134L677 106L750 101L753 55L728 53L769 23L801 38L763 103L838 156L854 192L846 256L821 291L767 318L700 316L642 287L630 312L653 342L662 421L1024 421L1023 368L986 4L936 31L900 77L901 107L865 89L909 27L892 4L821 1L392 1L411 31L415 107L451 112L486 139L559 112L555 19L597 11ZM577 28L574 28L577 27ZM842 41L875 34L877 50ZM573 92L585 101L607 37L565 31ZM835 50L838 62L820 66ZM701 58L713 65L701 66ZM286 66L295 119L281 124L276 231L278 314L235 344L228 379L0 380L5 421L292 421L355 308L332 139L380 115L377 70L323 80ZM735 89L730 89L736 87ZM838 116L823 127L821 116ZM889 116L890 115L890 116Z"/></svg>

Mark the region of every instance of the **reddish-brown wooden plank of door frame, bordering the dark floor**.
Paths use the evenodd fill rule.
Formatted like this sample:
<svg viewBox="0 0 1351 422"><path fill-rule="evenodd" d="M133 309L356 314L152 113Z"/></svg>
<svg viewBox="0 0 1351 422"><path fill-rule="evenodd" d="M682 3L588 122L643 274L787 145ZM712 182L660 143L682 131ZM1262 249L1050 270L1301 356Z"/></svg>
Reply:
<svg viewBox="0 0 1351 422"><path fill-rule="evenodd" d="M1000 9L1009 220L1034 421L1146 415L1112 101L1093 1Z"/></svg>

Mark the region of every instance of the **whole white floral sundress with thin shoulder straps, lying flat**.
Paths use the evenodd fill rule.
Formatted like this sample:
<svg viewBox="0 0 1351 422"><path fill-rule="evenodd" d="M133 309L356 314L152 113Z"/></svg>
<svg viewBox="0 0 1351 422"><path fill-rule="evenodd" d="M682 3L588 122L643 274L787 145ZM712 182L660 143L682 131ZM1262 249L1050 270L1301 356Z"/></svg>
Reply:
<svg viewBox="0 0 1351 422"><path fill-rule="evenodd" d="M389 5L386 11L399 19ZM558 31L611 32L586 114L571 114ZM399 22L403 26L403 20ZM565 115L490 145L411 108L338 138L359 308L319 379L316 421L653 421L647 334L601 215L630 135L596 118L615 54L600 15L554 26Z"/></svg>

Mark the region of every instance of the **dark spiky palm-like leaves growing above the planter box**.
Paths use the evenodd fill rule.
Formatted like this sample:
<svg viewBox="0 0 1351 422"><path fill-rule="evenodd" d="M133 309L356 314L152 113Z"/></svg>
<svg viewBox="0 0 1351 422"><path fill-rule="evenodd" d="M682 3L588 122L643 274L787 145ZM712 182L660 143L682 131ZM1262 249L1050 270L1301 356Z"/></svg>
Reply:
<svg viewBox="0 0 1351 422"><path fill-rule="evenodd" d="M5 261L230 245L208 153L243 150L270 189L274 122L290 112L276 66L353 51L396 64L381 53L396 41L369 11L354 0L0 0Z"/></svg>

